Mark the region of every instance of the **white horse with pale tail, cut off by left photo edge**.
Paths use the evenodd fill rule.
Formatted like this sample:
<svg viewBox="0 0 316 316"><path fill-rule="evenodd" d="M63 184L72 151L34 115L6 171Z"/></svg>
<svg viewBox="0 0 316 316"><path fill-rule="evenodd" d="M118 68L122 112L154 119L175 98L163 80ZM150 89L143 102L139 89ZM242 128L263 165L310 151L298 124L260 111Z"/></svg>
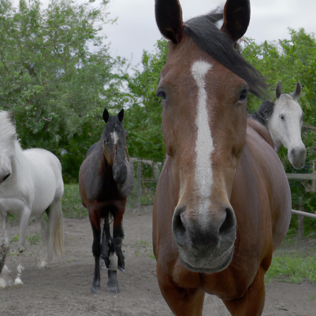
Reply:
<svg viewBox="0 0 316 316"><path fill-rule="evenodd" d="M9 112L0 111L0 273L9 245L5 234L7 212L20 217L19 251L31 217L48 215L48 262L63 257L62 196L64 183L58 158L45 149L22 150Z"/></svg>

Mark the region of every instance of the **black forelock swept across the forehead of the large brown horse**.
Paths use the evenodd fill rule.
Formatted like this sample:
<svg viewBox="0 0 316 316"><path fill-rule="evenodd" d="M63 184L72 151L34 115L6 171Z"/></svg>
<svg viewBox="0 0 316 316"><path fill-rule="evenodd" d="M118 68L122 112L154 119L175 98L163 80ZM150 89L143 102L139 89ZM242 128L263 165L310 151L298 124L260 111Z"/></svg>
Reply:
<svg viewBox="0 0 316 316"><path fill-rule="evenodd" d="M216 22L221 19L223 13L217 9L185 22L183 29L204 52L244 79L249 86L249 92L263 99L268 88L264 76L241 56L228 35L217 28Z"/></svg>

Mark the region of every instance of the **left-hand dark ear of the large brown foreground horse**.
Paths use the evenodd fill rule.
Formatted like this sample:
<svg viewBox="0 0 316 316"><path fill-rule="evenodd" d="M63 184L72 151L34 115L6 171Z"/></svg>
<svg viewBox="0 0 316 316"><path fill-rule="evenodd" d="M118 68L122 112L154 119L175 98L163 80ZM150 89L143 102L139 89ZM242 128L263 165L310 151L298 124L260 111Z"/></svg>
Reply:
<svg viewBox="0 0 316 316"><path fill-rule="evenodd" d="M179 0L155 0L155 16L160 33L179 44L184 33Z"/></svg>

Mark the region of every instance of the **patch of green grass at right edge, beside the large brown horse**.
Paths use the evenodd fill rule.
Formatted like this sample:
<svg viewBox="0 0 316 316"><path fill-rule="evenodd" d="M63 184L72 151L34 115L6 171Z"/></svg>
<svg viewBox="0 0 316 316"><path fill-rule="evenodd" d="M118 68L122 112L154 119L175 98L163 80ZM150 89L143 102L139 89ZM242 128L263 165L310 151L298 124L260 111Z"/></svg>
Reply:
<svg viewBox="0 0 316 316"><path fill-rule="evenodd" d="M308 279L313 283L316 280L316 257L297 252L274 256L264 281L269 283L271 278L291 283L301 283L303 279Z"/></svg>

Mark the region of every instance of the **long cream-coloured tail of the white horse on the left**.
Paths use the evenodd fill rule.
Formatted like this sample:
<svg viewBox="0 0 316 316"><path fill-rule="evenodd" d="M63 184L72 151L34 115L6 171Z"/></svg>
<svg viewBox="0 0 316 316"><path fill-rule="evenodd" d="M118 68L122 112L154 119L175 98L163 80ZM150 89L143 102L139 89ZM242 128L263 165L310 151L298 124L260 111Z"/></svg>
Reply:
<svg viewBox="0 0 316 316"><path fill-rule="evenodd" d="M64 227L61 197L55 197L48 212L47 256L49 262L61 261L64 255Z"/></svg>

